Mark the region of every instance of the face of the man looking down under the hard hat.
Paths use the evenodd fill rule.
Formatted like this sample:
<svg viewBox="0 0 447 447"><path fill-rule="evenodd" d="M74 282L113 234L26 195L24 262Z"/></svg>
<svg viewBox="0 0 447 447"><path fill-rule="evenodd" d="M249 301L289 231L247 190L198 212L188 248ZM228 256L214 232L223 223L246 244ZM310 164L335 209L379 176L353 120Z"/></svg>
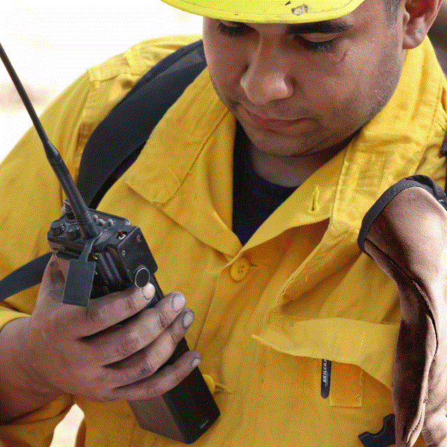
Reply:
<svg viewBox="0 0 447 447"><path fill-rule="evenodd" d="M203 43L221 101L274 156L341 149L388 102L404 60L402 20L390 27L383 0L316 24L205 18Z"/></svg>

